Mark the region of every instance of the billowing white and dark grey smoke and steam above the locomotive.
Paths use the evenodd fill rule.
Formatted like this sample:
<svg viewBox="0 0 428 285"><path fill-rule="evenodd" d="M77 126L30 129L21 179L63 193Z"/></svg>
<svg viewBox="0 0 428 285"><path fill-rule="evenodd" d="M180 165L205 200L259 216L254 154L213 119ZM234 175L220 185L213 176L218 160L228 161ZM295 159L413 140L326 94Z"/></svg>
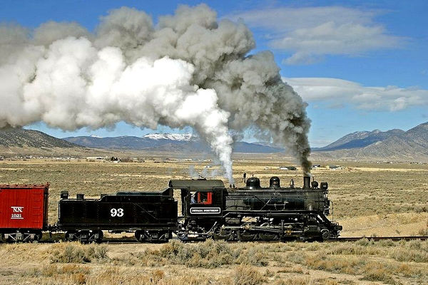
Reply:
<svg viewBox="0 0 428 285"><path fill-rule="evenodd" d="M63 130L191 126L232 178L230 131L252 128L287 147L307 172L306 104L280 78L272 53L243 23L217 21L205 4L158 23L122 7L94 33L48 22L0 26L0 127L44 121Z"/></svg>

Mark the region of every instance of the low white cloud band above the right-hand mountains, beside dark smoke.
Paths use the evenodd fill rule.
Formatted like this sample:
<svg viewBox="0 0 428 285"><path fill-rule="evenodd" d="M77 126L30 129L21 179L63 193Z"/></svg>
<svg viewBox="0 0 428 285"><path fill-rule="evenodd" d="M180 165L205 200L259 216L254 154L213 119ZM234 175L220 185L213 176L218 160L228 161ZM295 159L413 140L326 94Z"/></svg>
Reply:
<svg viewBox="0 0 428 285"><path fill-rule="evenodd" d="M308 102L323 101L329 108L352 105L362 110L404 110L428 105L428 90L397 86L367 87L336 78L282 78Z"/></svg>

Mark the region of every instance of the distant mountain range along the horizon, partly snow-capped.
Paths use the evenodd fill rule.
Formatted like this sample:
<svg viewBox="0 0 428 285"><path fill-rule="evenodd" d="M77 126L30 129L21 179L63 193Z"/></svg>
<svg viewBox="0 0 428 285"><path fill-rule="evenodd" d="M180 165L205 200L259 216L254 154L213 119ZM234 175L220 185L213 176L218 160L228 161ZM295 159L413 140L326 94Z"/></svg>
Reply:
<svg viewBox="0 0 428 285"><path fill-rule="evenodd" d="M101 138L95 135L54 138L37 130L23 128L0 129L0 155L12 153L46 152L88 153L145 151L145 152L208 152L208 145L193 134L155 133L136 136ZM284 149L263 142L235 142L234 152L275 153ZM350 133L325 147L314 147L312 156L331 159L361 160L428 160L428 123L404 130L359 131Z"/></svg>

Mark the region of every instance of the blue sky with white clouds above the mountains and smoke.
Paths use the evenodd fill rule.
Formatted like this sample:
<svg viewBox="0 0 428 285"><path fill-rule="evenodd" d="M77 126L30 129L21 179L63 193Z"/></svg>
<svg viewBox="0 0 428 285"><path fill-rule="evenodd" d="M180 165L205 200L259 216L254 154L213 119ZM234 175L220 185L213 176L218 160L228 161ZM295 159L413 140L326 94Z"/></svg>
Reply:
<svg viewBox="0 0 428 285"><path fill-rule="evenodd" d="M206 3L219 18L243 19L250 26L255 51L272 50L284 80L309 104L313 147L357 130L408 130L428 121L428 1L180 3ZM33 28L46 21L76 21L93 30L100 16L120 6L144 10L156 21L173 14L177 1L4 0L0 21ZM60 138L171 132L124 123L114 130L63 132L41 123L30 128Z"/></svg>

